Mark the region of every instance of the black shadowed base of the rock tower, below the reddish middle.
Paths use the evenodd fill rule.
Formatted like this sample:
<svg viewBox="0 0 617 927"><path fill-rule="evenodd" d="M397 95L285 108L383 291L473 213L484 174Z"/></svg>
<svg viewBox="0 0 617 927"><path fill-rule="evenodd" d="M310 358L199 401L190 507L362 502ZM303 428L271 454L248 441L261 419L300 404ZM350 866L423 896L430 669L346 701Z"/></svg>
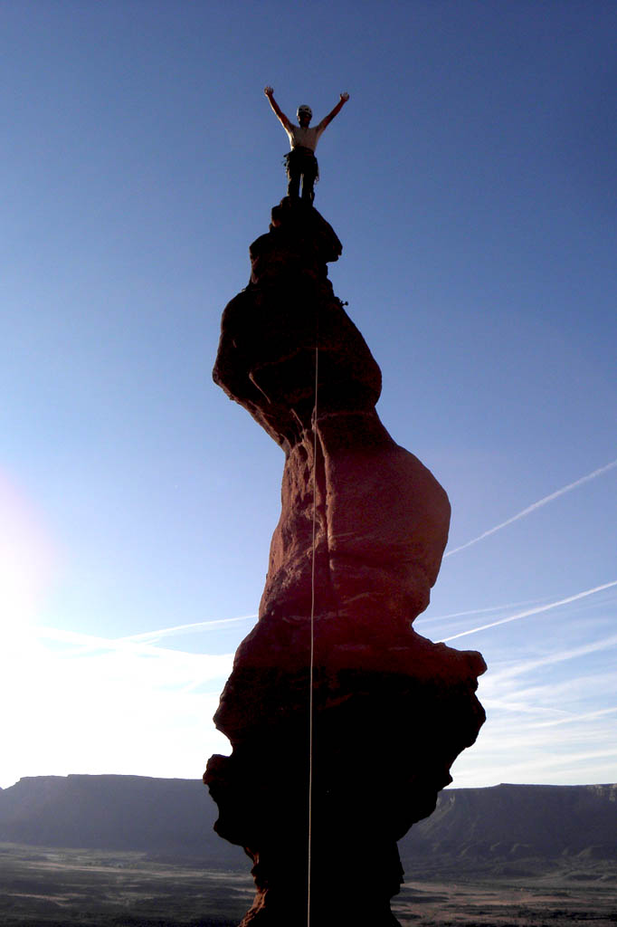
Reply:
<svg viewBox="0 0 617 927"><path fill-rule="evenodd" d="M242 923L300 927L307 923L308 667L288 673L251 664L252 650L265 653L258 639L270 636L268 624L243 644L216 716L233 754L212 756L204 779L220 809L217 832L255 864L257 895ZM296 654L307 654L308 629L299 627L306 622L285 625ZM285 643L280 621L276 629L272 662ZM396 654L354 644L323 654L327 632L318 639L311 923L396 924L397 840L433 812L450 765L475 740L485 717L474 695L484 664L412 630ZM359 655L365 667L392 660L400 669L353 667Z"/></svg>

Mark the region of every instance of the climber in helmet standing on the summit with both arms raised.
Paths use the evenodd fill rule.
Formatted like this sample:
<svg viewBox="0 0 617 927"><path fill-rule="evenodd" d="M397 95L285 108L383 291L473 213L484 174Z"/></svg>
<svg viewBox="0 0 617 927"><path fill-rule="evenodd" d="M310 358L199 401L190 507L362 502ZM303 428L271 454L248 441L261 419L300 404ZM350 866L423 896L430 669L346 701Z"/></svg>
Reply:
<svg viewBox="0 0 617 927"><path fill-rule="evenodd" d="M315 158L315 148L320 139L320 135L326 126L334 120L341 109L349 99L349 94L341 94L341 98L332 110L316 126L309 128L308 123L312 118L312 110L303 104L297 108L298 125L289 121L278 103L274 99L274 91L271 87L266 87L264 94L270 100L271 108L276 113L283 129L289 136L291 151L285 155L285 166L287 169L287 196L299 197L300 195L300 177L302 177L302 199L312 203L315 198L313 184L319 180L319 165Z"/></svg>

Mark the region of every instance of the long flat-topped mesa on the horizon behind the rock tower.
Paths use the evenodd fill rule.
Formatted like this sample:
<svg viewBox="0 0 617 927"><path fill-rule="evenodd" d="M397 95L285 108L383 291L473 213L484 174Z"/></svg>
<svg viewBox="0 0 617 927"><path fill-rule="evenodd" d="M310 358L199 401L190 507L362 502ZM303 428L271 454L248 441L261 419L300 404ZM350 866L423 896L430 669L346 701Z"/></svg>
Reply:
<svg viewBox="0 0 617 927"><path fill-rule="evenodd" d="M200 780L31 776L0 789L0 842L143 851L246 870L243 850L212 830L215 818ZM442 792L434 814L398 846L410 871L456 866L473 874L525 859L541 871L564 859L597 858L617 879L616 833L617 784L496 785Z"/></svg>

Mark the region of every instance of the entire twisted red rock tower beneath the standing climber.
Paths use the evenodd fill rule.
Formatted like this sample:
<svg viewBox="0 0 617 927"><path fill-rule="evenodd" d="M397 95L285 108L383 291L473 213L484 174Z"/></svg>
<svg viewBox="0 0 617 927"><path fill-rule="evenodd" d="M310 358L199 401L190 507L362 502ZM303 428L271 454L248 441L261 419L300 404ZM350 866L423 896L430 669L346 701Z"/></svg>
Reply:
<svg viewBox="0 0 617 927"><path fill-rule="evenodd" d="M308 869L315 927L396 924L397 840L431 814L485 718L480 654L411 628L449 503L375 412L379 367L327 277L340 253L317 210L275 207L223 313L213 374L285 452L258 624L215 716L233 753L204 777L217 831L255 863L246 925L306 924Z"/></svg>

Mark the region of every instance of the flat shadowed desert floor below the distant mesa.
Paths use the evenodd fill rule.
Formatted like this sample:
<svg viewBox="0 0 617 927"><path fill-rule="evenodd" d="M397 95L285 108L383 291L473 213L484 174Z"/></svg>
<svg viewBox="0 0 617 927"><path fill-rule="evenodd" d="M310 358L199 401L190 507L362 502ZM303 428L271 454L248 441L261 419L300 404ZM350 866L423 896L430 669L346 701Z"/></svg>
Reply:
<svg viewBox="0 0 617 927"><path fill-rule="evenodd" d="M617 923L617 873L598 860L571 860L538 875L413 875L393 901L403 927ZM195 862L0 844L4 927L235 927L252 895L247 873Z"/></svg>

